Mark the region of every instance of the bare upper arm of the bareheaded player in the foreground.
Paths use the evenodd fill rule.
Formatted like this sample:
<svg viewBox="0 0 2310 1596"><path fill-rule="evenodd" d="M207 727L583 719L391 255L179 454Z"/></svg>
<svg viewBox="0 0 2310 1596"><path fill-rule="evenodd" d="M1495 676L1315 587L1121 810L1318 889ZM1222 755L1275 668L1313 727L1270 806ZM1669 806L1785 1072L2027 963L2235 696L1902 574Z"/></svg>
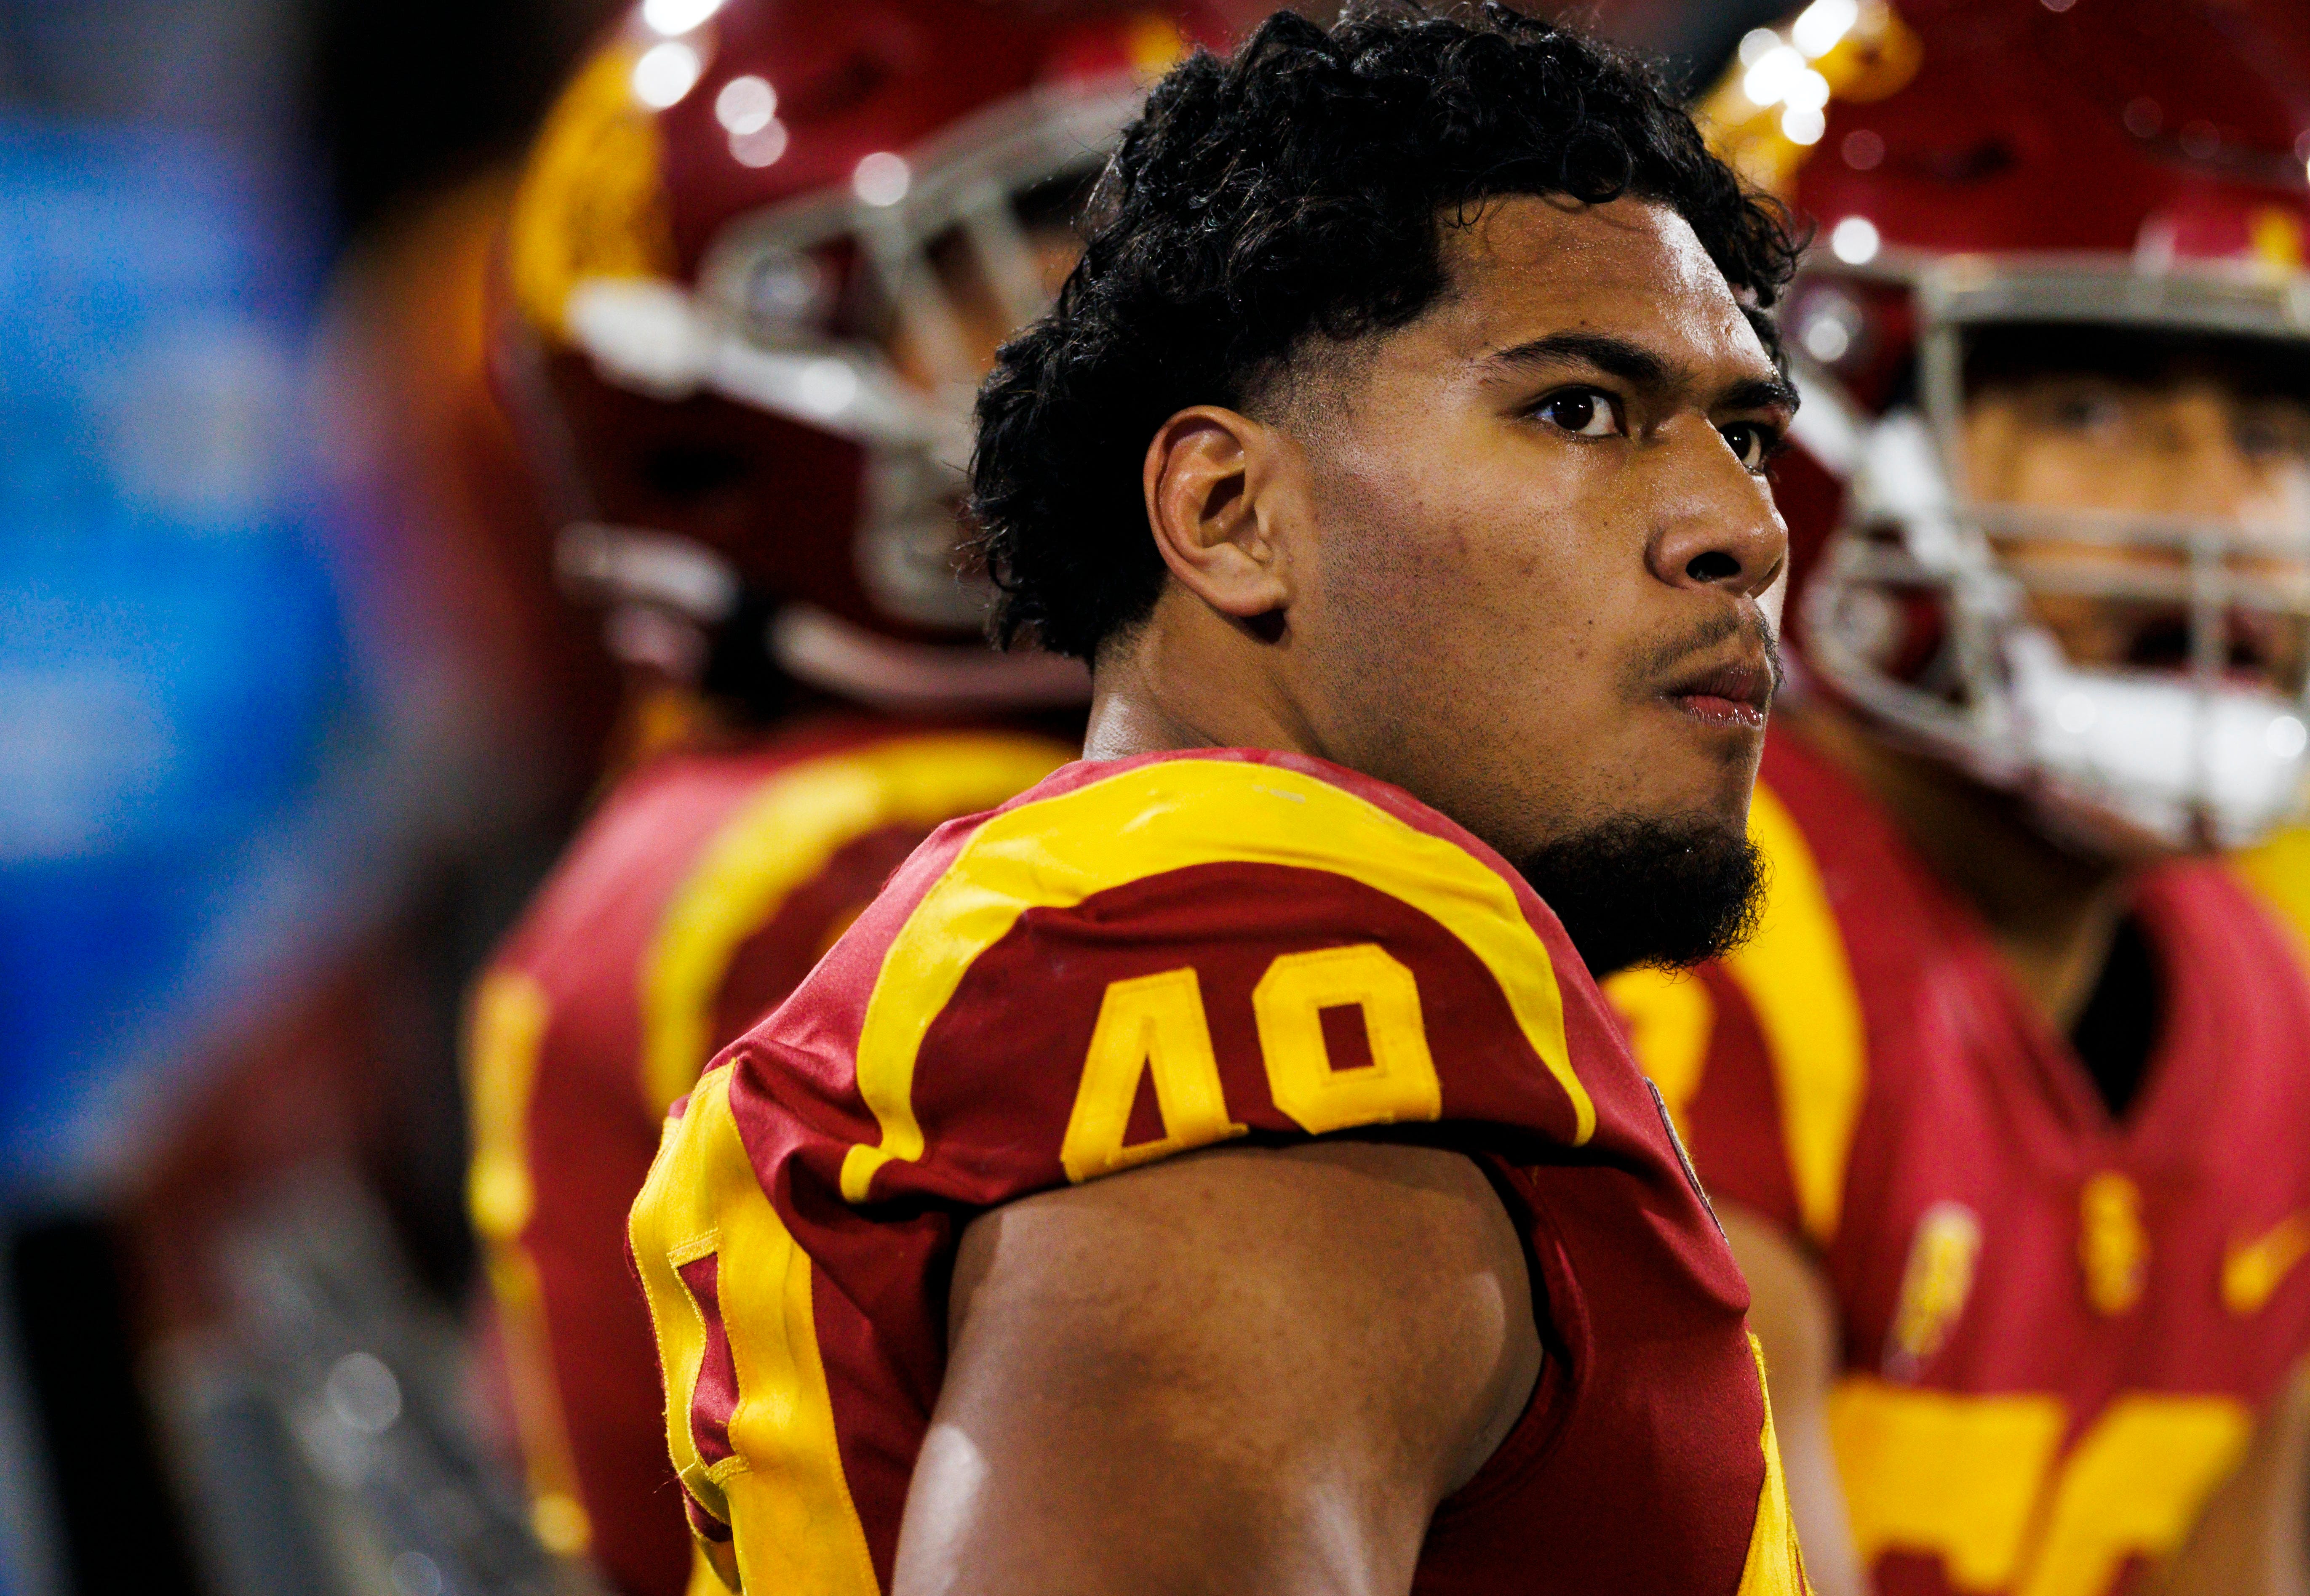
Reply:
<svg viewBox="0 0 2310 1596"><path fill-rule="evenodd" d="M1153 1164L979 1217L894 1596L1400 1594L1541 1365L1458 1153Z"/></svg>

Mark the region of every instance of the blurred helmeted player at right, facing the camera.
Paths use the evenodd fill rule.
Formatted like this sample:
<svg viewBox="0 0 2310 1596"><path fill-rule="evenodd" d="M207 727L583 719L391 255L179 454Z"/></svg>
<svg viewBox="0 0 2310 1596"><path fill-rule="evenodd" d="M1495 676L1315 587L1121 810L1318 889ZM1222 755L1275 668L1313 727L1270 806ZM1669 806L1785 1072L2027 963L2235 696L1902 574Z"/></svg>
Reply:
<svg viewBox="0 0 2310 1596"><path fill-rule="evenodd" d="M1823 229L1781 487L1836 534L1763 928L1615 998L1813 1578L2298 1589L2310 991L2204 850L2303 781L2310 83L2245 7L1823 0L1707 113Z"/></svg>

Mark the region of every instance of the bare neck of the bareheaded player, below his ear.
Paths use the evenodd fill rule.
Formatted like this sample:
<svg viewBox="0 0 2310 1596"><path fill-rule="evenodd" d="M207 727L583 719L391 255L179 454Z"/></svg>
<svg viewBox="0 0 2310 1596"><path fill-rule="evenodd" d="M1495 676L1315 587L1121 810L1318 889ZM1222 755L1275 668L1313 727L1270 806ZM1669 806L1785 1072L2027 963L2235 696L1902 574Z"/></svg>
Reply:
<svg viewBox="0 0 2310 1596"><path fill-rule="evenodd" d="M1280 647L1289 644L1164 591L1143 626L1100 654L1083 758L1125 760L1167 748L1331 758L1277 681Z"/></svg>

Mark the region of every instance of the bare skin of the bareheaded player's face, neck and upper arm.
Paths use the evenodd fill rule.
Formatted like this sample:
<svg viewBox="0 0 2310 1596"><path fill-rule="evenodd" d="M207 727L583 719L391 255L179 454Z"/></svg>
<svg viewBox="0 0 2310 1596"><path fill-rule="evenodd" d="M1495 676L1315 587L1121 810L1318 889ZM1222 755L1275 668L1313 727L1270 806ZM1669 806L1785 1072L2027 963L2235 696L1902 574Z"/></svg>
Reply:
<svg viewBox="0 0 2310 1596"><path fill-rule="evenodd" d="M1097 661L1090 758L1310 753L1511 859L1744 827L1790 395L1661 206L1506 199L1444 240L1421 319L1150 439L1171 582ZM1458 1153L1210 1150L1014 1203L963 1240L894 1591L1402 1594L1538 1367Z"/></svg>

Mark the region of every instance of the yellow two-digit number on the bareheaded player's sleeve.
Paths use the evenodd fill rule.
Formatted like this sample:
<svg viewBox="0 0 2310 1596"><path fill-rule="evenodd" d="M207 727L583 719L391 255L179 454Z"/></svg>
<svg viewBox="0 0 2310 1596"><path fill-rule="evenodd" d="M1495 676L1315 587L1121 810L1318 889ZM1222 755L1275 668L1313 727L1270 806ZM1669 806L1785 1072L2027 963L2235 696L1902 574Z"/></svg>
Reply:
<svg viewBox="0 0 2310 1596"><path fill-rule="evenodd" d="M1326 1009L1361 1014L1372 1062L1333 1067L1324 1042ZM1374 942L1282 954L1252 989L1252 1019L1268 1095L1310 1134L1444 1113L1418 982ZM1143 1076L1155 1088L1162 1136L1127 1143ZM1227 1113L1194 970L1109 984L1058 1150L1067 1178L1111 1176L1243 1132Z"/></svg>

